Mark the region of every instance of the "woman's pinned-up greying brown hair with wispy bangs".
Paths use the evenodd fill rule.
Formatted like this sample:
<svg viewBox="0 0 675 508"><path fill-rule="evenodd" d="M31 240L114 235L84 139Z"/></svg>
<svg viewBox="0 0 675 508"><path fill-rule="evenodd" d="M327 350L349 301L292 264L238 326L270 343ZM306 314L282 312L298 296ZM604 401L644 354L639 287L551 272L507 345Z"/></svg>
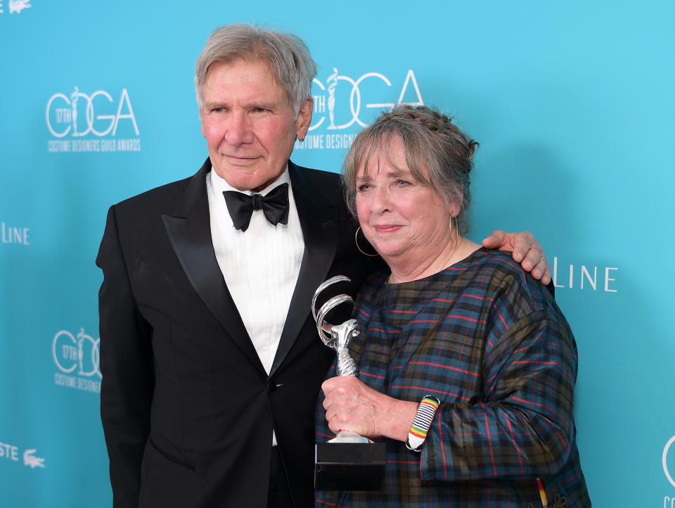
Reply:
<svg viewBox="0 0 675 508"><path fill-rule="evenodd" d="M342 164L342 183L349 212L356 217L356 174L380 152L387 153L392 139L403 142L406 163L419 182L434 189L447 205L460 203L459 232L468 231L465 212L471 201L469 173L478 143L452 123L452 118L426 106L399 105L368 125L354 139ZM424 171L426 169L426 172ZM428 173L428 176L425 175Z"/></svg>

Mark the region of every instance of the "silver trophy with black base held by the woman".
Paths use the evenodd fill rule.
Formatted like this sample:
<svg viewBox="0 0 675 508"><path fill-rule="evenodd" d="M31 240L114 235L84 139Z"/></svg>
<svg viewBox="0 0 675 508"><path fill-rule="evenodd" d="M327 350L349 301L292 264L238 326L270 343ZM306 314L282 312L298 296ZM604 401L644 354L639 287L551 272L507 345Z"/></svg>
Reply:
<svg viewBox="0 0 675 508"><path fill-rule="evenodd" d="M361 333L356 319L342 324L326 322L326 315L342 303L354 305L349 295L330 298L316 312L316 298L328 286L337 282L350 282L349 277L338 275L323 282L311 299L311 314L321 341L338 353L338 376L358 376L356 362L349 356L349 343ZM328 443L316 443L314 488L317 490L379 490L385 467L385 444L373 443L356 432L340 430Z"/></svg>

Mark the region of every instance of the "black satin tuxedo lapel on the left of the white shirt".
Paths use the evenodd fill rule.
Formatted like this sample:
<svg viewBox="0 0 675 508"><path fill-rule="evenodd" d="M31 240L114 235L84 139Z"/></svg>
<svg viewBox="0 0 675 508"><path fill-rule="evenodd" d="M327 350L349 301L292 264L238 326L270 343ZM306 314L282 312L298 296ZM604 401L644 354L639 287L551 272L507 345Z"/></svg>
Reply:
<svg viewBox="0 0 675 508"><path fill-rule="evenodd" d="M167 234L193 288L226 334L265 374L216 260L211 238L206 174L210 161L195 174L172 215L163 215Z"/></svg>

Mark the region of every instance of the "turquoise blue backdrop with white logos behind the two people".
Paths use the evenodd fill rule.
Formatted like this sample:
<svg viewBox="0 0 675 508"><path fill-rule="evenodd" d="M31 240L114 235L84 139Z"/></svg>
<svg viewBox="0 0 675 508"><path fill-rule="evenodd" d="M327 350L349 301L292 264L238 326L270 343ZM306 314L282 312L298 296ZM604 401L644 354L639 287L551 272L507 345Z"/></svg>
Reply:
<svg viewBox="0 0 675 508"><path fill-rule="evenodd" d="M319 65L295 163L339 171L401 102L480 141L470 237L546 250L594 506L674 508L675 4L657 0L0 0L0 506L111 505L106 210L203 163L194 62L235 22L295 32Z"/></svg>

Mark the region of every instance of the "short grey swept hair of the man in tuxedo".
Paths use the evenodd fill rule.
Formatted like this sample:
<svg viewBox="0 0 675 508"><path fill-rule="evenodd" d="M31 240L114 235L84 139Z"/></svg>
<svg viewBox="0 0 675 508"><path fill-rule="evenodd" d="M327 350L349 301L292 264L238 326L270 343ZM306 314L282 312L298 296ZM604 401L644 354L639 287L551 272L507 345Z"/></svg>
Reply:
<svg viewBox="0 0 675 508"><path fill-rule="evenodd" d="M300 37L254 25L226 25L211 32L195 69L200 111L204 106L204 83L210 66L215 62L232 63L239 59L269 63L277 84L288 94L297 118L311 93L316 63Z"/></svg>

